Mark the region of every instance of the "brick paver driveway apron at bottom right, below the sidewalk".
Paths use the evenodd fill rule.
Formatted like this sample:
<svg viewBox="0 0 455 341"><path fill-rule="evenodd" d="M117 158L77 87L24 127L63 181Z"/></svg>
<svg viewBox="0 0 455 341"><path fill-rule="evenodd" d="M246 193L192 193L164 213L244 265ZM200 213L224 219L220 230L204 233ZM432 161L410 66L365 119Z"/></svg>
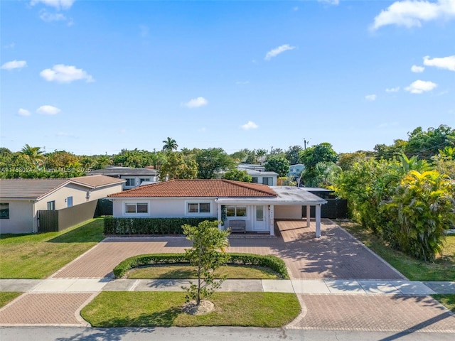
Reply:
<svg viewBox="0 0 455 341"><path fill-rule="evenodd" d="M455 315L431 296L299 295L303 313L287 328L455 332Z"/></svg>

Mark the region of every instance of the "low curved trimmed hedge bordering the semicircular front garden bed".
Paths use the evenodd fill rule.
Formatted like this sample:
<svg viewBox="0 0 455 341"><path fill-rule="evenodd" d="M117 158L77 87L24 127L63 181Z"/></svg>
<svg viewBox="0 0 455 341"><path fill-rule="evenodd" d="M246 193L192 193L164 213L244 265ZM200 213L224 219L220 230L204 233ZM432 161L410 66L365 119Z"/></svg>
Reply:
<svg viewBox="0 0 455 341"><path fill-rule="evenodd" d="M277 272L282 278L289 278L286 264L276 256L261 256L258 254L229 254L230 260L227 264L243 264L252 266L264 266ZM120 278L127 274L130 269L139 266L153 264L176 264L189 263L186 254L141 254L125 259L114 268L114 276Z"/></svg>

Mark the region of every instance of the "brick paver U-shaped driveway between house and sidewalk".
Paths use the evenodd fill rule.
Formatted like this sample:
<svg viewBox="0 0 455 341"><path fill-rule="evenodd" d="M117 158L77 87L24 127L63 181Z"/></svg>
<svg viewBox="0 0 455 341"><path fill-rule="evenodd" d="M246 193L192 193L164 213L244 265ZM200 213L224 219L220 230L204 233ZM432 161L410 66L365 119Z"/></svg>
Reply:
<svg viewBox="0 0 455 341"><path fill-rule="evenodd" d="M404 278L330 220L323 220L321 238L314 237L314 222L306 227L303 220L282 220L277 229L281 237L233 236L228 251L279 256L287 263L291 278ZM114 266L130 256L183 252L188 247L191 244L184 237L107 238L52 277L112 276Z"/></svg>

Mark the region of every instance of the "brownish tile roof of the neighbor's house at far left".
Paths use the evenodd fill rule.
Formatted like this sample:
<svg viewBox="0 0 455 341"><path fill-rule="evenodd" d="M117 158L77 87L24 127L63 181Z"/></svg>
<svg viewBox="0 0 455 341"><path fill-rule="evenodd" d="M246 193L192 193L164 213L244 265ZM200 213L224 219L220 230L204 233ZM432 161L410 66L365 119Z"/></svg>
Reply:
<svg viewBox="0 0 455 341"><path fill-rule="evenodd" d="M0 198L39 199L68 183L94 189L124 183L124 180L109 178L104 175L81 176L68 179L0 179Z"/></svg>

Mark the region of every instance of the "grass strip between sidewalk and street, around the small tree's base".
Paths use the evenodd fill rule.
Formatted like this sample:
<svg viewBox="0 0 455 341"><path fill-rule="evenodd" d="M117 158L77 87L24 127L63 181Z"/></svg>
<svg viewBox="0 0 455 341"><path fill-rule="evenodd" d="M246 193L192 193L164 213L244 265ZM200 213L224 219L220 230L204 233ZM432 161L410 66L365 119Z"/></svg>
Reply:
<svg viewBox="0 0 455 341"><path fill-rule="evenodd" d="M214 293L215 311L187 315L185 293L103 291L82 309L93 327L248 326L278 328L300 313L294 293Z"/></svg>

